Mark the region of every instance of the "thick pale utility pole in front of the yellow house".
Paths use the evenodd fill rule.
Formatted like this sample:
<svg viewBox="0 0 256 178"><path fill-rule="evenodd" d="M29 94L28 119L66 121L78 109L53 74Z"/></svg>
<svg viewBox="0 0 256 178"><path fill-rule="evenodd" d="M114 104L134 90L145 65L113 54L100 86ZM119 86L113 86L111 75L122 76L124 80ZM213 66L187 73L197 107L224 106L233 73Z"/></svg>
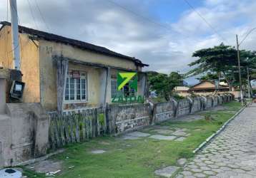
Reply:
<svg viewBox="0 0 256 178"><path fill-rule="evenodd" d="M18 27L18 12L16 0L9 0L11 10L11 36L12 36L12 51L14 54L14 67L20 70L20 54L19 54L19 27Z"/></svg>

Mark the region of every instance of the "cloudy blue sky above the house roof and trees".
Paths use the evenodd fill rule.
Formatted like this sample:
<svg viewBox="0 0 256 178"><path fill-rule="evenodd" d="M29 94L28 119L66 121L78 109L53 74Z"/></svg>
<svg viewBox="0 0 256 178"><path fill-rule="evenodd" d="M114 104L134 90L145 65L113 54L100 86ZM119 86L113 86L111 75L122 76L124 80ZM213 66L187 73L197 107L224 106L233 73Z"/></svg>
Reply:
<svg viewBox="0 0 256 178"><path fill-rule="evenodd" d="M160 73L186 73L196 60L194 51L222 42L235 46L235 34L242 40L256 27L255 0L187 1L192 7L185 0L17 0L17 5L22 26L107 47ZM6 20L7 0L1 0L0 21ZM256 31L240 48L256 50L255 38Z"/></svg>

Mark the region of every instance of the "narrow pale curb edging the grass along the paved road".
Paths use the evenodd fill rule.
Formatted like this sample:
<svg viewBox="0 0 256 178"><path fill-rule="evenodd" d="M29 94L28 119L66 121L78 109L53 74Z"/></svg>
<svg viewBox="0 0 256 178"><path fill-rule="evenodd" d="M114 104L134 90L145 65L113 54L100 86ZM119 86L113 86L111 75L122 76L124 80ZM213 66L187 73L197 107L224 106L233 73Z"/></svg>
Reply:
<svg viewBox="0 0 256 178"><path fill-rule="evenodd" d="M212 141L212 139L214 137L216 137L217 135L220 134L220 132L222 132L222 130L225 129L225 127L227 127L227 125L230 123L231 120L235 119L235 117L237 117L237 115L240 114L240 112L242 112L244 109L246 108L246 106L242 107L239 111L237 111L237 113L235 113L235 115L233 115L229 120L227 120L224 125L222 125L222 127L220 127L219 130L217 130L214 134L212 134L210 137L207 137L207 139L205 140L205 142L202 142L199 147L197 147L193 153L197 153L199 150L202 149L202 147L205 147L205 145L207 145L207 143L209 143L210 141Z"/></svg>

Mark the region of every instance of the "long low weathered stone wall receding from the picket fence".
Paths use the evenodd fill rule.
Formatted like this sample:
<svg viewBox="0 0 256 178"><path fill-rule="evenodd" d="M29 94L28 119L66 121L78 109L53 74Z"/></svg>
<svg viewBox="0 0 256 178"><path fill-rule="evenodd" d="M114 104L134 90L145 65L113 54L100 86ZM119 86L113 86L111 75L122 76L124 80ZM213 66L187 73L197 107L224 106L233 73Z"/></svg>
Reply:
<svg viewBox="0 0 256 178"><path fill-rule="evenodd" d="M165 120L178 120L179 116L189 115L200 110L208 110L222 103L230 102L232 95L217 95L169 102L137 105L109 105L107 127L109 133L119 134Z"/></svg>

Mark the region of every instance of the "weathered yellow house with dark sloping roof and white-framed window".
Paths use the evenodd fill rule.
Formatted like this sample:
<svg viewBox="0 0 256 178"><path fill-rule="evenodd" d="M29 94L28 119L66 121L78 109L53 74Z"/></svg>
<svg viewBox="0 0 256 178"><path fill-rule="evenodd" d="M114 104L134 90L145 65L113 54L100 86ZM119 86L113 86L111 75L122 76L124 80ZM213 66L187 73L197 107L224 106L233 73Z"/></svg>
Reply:
<svg viewBox="0 0 256 178"><path fill-rule="evenodd" d="M1 22L0 66L14 68L11 23ZM117 95L144 95L147 79L137 58L101 46L19 26L23 102L46 110L70 110L111 103ZM137 72L137 92L117 91L118 72Z"/></svg>

